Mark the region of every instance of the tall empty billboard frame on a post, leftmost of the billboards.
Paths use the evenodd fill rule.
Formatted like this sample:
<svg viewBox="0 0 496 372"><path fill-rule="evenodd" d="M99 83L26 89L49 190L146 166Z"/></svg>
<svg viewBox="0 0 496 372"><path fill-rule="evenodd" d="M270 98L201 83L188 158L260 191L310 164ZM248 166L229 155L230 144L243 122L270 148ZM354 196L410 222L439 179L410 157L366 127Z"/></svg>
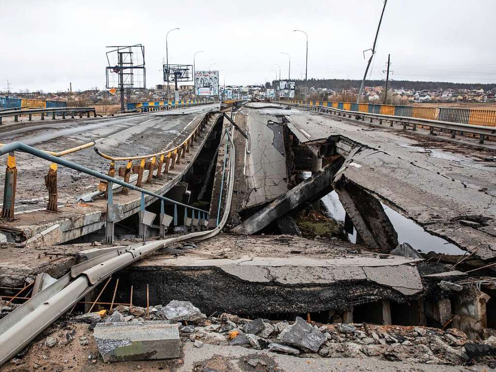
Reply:
<svg viewBox="0 0 496 372"><path fill-rule="evenodd" d="M145 89L145 47L141 44L111 46L106 52L105 68L107 89L119 89L121 92L121 111L124 111L124 89Z"/></svg>

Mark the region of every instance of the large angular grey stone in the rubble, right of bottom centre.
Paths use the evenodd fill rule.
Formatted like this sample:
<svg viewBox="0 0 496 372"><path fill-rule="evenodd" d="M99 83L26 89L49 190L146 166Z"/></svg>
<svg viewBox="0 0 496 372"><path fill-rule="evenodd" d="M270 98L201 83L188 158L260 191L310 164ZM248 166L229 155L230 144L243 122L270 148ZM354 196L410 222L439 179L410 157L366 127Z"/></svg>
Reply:
<svg viewBox="0 0 496 372"><path fill-rule="evenodd" d="M287 326L278 336L279 342L317 352L326 340L322 332L297 316L294 324Z"/></svg>

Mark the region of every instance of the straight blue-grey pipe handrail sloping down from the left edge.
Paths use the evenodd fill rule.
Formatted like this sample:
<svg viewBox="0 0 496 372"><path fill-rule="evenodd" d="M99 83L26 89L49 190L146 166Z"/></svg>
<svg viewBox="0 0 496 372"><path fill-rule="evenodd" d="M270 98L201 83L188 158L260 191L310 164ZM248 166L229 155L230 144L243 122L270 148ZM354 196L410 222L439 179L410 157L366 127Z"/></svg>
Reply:
<svg viewBox="0 0 496 372"><path fill-rule="evenodd" d="M96 178L105 180L107 182L113 182L114 184L118 184L118 185L121 185L121 186L124 186L124 187L128 187L131 190L136 190L136 191L142 192L144 194L153 196L153 197L155 197L157 199L162 199L164 201L168 201L170 203L177 204L177 205L180 205L182 207L187 207L189 209L194 209L196 211L206 212L206 211L204 211L202 209L198 209L198 208L192 207L190 205L183 204L183 203L181 203L179 201L172 200L172 199L169 199L168 197L165 197L165 196L156 194L155 192L145 190L144 188L137 187L137 186L134 186L132 184L128 184L127 182L121 181L121 180L119 180L117 178L113 178L113 177L110 177L110 176L105 175L103 173L100 173L100 172L94 171L92 169L83 167L82 165L79 165L79 164L76 164L76 163L72 163L72 162L70 162L68 160L65 160L65 159L58 158L56 156L47 154L46 152L44 152L42 150L39 150L36 147L28 146L28 145L26 145L26 144L24 144L22 142L19 142L19 141L12 142L12 143L9 143L9 144L7 144L7 145L5 145L3 147L0 147L0 156L1 155L5 155L5 154L7 154L7 153L9 153L11 151L22 151L22 152L26 152L28 154L37 156L39 158L48 160L48 161L50 161L52 163L57 163L59 165L63 165L64 167L71 168L71 169L73 169L75 171L78 171L78 172L86 173L87 175L90 175L90 176L93 176L93 177L96 177Z"/></svg>

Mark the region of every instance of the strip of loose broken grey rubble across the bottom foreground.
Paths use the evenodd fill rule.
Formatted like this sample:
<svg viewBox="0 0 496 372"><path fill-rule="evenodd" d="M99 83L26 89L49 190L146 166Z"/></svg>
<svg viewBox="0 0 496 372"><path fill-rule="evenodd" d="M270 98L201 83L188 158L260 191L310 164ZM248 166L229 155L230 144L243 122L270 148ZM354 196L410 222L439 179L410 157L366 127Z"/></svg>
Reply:
<svg viewBox="0 0 496 372"><path fill-rule="evenodd" d="M204 343L242 346L311 358L377 358L404 363L496 366L496 337L472 341L454 328L445 331L422 326L385 326L369 323L319 324L296 321L249 320L223 313L207 317L189 302L166 306L116 307L109 315L87 313L74 320L89 323L169 320L181 322L181 341L195 347Z"/></svg>

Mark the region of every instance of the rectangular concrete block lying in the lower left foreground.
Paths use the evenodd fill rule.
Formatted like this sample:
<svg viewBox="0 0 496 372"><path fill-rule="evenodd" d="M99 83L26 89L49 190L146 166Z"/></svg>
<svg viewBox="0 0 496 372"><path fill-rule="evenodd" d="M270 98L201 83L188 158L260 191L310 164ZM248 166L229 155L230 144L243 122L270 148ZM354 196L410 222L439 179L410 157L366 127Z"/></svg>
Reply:
<svg viewBox="0 0 496 372"><path fill-rule="evenodd" d="M180 355L178 323L99 323L95 327L93 337L105 363L171 359Z"/></svg>

